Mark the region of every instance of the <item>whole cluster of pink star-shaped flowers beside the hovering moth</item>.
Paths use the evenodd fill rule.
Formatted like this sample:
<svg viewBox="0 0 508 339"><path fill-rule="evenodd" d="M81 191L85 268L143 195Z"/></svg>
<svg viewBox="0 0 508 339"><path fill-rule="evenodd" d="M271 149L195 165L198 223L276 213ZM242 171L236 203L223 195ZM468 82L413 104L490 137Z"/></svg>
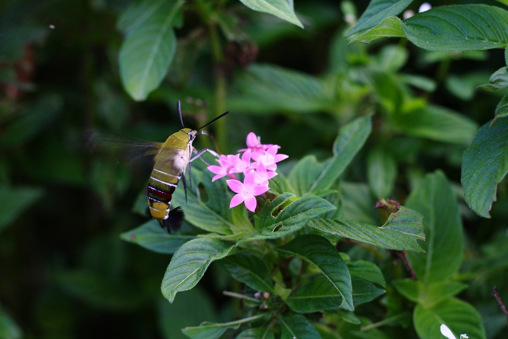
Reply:
<svg viewBox="0 0 508 339"><path fill-rule="evenodd" d="M221 155L216 160L219 166L207 167L210 172L216 174L212 181L223 176L231 178L226 182L229 188L237 194L231 199L229 208L244 202L249 211L253 212L256 209L255 196L261 195L270 189L268 180L277 175L275 172L277 169L276 163L288 158L285 154L277 154L279 148L279 145L263 145L261 138L250 132L247 135L247 148L238 150L243 152L241 158L240 153L234 156ZM235 173L245 175L243 182L237 180Z"/></svg>

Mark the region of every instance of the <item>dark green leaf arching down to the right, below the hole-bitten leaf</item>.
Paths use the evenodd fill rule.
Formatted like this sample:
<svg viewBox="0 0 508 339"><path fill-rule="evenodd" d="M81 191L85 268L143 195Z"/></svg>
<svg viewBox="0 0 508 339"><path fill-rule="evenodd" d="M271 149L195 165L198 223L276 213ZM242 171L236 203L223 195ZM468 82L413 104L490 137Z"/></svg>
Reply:
<svg viewBox="0 0 508 339"><path fill-rule="evenodd" d="M335 247L326 238L308 234L300 235L277 248L286 257L306 260L321 271L342 296L340 307L353 311L351 276Z"/></svg>

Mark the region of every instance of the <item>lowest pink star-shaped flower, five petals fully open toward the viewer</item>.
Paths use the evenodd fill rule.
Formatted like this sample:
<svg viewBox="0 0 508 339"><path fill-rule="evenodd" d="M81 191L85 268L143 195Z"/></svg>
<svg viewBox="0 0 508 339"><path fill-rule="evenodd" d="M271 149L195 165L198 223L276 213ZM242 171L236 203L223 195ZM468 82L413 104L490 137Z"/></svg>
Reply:
<svg viewBox="0 0 508 339"><path fill-rule="evenodd" d="M254 170L251 170L245 175L243 183L238 180L226 180L226 182L233 192L238 193L231 199L229 208L238 206L244 202L245 207L251 212L256 209L257 202L255 196L261 195L270 189L268 186L256 184L256 172Z"/></svg>

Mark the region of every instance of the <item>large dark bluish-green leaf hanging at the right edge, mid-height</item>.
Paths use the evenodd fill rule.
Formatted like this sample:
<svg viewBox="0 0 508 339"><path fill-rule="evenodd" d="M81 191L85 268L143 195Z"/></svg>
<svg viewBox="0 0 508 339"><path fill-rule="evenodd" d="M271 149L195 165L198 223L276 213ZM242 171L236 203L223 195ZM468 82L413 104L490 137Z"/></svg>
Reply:
<svg viewBox="0 0 508 339"><path fill-rule="evenodd" d="M508 117L504 117L482 126L462 157L460 181L464 199L474 212L490 218L497 183L507 171Z"/></svg>

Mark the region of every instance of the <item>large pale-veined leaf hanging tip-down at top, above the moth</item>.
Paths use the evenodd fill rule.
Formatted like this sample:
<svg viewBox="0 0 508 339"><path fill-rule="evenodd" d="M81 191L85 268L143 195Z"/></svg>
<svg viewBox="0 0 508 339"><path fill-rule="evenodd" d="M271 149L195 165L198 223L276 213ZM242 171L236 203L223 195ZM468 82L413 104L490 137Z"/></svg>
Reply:
<svg viewBox="0 0 508 339"><path fill-rule="evenodd" d="M167 0L133 27L119 53L123 86L134 100L145 100L160 85L175 54L174 20L183 0Z"/></svg>

